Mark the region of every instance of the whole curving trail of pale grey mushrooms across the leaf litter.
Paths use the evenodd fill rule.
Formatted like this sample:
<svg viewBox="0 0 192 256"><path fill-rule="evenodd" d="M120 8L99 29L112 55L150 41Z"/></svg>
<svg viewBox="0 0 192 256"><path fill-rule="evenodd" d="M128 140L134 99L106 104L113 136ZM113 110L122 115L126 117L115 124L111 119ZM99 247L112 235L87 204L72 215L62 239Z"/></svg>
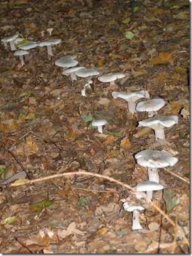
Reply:
<svg viewBox="0 0 192 256"><path fill-rule="evenodd" d="M61 42L60 39L49 39L43 42L33 42L27 41L25 43L21 43L18 46L18 50L16 50L16 44L18 42L23 41L23 38L18 37L17 34L11 35L9 37L5 37L1 39L5 48L7 48L7 44L9 42L11 51L15 51L15 56L20 56L21 65L25 64L23 55L28 54L28 49L35 48L37 46L47 46L47 54L50 59L53 56L52 46L54 44L59 44ZM97 70L93 68L85 68L85 67L76 67L78 65L78 61L70 56L64 56L55 61L55 65L63 68L63 75L69 75L71 77L71 82L77 80L76 77L83 77L87 79L85 86L81 90L81 96L86 95L86 88L90 88L90 84L92 84L91 77L93 75L99 75ZM109 82L111 85L115 84L118 79L122 79L126 75L116 72L110 74L104 74L98 77L100 82ZM178 117L176 115L157 115L157 111L160 110L165 105L163 99L149 99L150 94L145 91L136 91L132 93L126 92L112 92L112 98L117 99L121 98L127 101L128 103L128 111L134 115L136 112L148 112L148 118L145 120L141 120L138 122L138 126L150 127L154 130L155 133L155 142L159 141L159 139L165 140L165 132L164 127L171 127L174 124L178 123ZM138 102L140 99L144 99L143 101ZM98 132L103 132L103 126L107 124L107 121L104 119L93 120L91 125L93 127L97 127ZM178 158L173 157L171 154L165 151L158 150L143 150L135 155L136 162L143 166L147 167L148 172L148 181L141 182L136 185L136 199L141 200L141 198L147 198L148 202L153 200L153 191L157 191L160 189L164 189L164 186L159 183L159 169L167 166L174 166ZM129 200L129 198L121 200L123 203L124 210L128 212L133 212L132 218L132 229L143 229L140 224L140 211L145 210L143 206L140 204L133 203L133 200ZM141 201L140 201L141 202Z"/></svg>

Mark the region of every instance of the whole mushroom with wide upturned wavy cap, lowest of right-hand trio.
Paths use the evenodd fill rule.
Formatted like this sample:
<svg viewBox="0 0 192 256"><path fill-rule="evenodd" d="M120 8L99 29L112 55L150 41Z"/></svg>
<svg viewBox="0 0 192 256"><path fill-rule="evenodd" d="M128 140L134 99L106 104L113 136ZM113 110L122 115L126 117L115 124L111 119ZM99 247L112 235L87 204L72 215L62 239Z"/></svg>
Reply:
<svg viewBox="0 0 192 256"><path fill-rule="evenodd" d="M177 115L155 115L138 123L138 127L147 126L152 128L155 132L155 141L158 141L158 139L165 139L164 127L178 124L178 117Z"/></svg>

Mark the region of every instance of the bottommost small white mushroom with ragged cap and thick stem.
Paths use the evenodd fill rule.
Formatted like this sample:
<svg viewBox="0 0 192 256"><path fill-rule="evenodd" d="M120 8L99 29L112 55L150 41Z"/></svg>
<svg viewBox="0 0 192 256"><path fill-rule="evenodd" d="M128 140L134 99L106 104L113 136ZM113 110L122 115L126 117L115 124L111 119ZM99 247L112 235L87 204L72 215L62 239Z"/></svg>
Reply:
<svg viewBox="0 0 192 256"><path fill-rule="evenodd" d="M144 210L140 205L129 205L127 202L123 203L123 208L126 212L133 212L132 229L143 229L140 224L140 210Z"/></svg>

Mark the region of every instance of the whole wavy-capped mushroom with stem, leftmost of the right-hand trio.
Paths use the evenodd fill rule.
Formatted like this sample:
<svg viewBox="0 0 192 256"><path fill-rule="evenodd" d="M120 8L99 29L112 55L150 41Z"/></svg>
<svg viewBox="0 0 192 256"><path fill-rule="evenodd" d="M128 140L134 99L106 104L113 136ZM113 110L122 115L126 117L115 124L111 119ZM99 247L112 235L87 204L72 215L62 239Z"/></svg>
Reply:
<svg viewBox="0 0 192 256"><path fill-rule="evenodd" d="M149 98L150 95L148 94L147 91L141 90L141 91L136 91L133 93L124 93L124 92L112 92L112 98L121 98L125 99L128 102L128 110L131 113L136 113L135 106L136 106L136 101L141 98Z"/></svg>

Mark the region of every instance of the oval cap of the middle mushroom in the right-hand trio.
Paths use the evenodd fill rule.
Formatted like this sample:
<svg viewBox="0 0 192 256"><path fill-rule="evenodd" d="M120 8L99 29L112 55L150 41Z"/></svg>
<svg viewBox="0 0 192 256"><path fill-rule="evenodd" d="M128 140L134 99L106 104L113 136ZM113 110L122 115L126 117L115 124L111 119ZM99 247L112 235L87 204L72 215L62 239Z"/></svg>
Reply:
<svg viewBox="0 0 192 256"><path fill-rule="evenodd" d="M148 101L140 101L136 105L136 111L157 111L165 105L164 99L148 99Z"/></svg>

